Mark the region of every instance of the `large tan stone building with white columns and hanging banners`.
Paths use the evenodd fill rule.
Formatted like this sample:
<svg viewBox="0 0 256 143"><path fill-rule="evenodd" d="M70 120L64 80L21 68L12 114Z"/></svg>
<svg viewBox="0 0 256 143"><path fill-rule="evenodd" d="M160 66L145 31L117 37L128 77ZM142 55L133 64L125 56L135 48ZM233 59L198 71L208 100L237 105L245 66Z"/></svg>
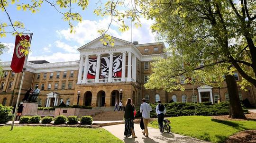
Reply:
<svg viewBox="0 0 256 143"><path fill-rule="evenodd" d="M28 61L25 80L22 87L20 101L25 92L35 84L41 90L38 96L38 106L50 107L59 105L62 101L66 105L77 104L80 91L80 105L86 106L114 106L116 100L132 98L134 104L139 105L142 98L149 103L155 101L216 103L219 96L222 101L228 101L226 83L221 88L208 85L195 85L195 97L192 97L192 85L184 84L185 91L167 93L164 90L146 90L144 84L152 73L150 62L155 58L166 58L165 44L131 43L114 38L115 46L102 45L99 37L82 47L80 61L49 63L47 61ZM14 73L10 68L11 62L2 62L4 76L0 79L0 103L14 106L21 73ZM112 75L112 76L109 76ZM235 73L237 81L240 80ZM183 84L181 78L181 84ZM256 102L256 88L248 87L248 92L239 90L240 99L248 99L252 104ZM120 92L122 91L122 92ZM122 94L120 94L122 93Z"/></svg>

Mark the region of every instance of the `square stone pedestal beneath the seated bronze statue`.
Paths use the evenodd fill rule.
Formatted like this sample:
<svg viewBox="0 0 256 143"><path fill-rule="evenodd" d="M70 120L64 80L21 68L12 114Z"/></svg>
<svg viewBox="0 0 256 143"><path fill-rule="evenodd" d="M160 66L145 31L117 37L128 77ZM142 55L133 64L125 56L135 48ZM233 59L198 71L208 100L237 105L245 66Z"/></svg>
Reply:
<svg viewBox="0 0 256 143"><path fill-rule="evenodd" d="M37 115L38 103L23 102L22 116L35 116Z"/></svg>

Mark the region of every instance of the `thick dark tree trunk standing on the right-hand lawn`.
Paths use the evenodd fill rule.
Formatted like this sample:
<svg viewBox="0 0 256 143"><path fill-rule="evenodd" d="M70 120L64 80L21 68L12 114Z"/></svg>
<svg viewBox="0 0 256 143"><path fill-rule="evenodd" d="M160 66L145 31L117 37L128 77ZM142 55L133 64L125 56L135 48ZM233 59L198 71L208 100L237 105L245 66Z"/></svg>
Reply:
<svg viewBox="0 0 256 143"><path fill-rule="evenodd" d="M226 83L229 92L230 111L229 118L246 118L239 101L238 86L235 76L226 75Z"/></svg>

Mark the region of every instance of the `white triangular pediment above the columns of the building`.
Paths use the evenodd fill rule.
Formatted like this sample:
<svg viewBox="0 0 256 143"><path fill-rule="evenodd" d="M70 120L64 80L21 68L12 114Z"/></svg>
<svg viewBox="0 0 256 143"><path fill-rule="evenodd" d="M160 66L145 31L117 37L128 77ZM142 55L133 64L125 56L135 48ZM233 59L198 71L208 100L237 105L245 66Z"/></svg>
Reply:
<svg viewBox="0 0 256 143"><path fill-rule="evenodd" d="M101 42L102 38L103 38L103 35L94 39L94 40L92 40L91 42L83 45L82 47L78 48L77 50L93 49L93 48L100 48L100 47L110 46L110 44L104 46ZM125 40L122 40L122 39L119 39L119 38L116 38L116 37L113 37L113 36L112 36L112 39L114 40L114 45L115 46L133 44L132 42L128 42L128 41L125 41Z"/></svg>

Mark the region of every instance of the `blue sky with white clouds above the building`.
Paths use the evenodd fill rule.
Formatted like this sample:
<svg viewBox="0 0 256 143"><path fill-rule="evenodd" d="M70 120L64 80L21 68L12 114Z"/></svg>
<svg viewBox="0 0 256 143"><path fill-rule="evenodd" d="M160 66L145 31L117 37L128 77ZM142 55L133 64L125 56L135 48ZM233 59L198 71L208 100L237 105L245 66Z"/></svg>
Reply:
<svg viewBox="0 0 256 143"><path fill-rule="evenodd" d="M68 22L62 19L62 15L46 2L35 14L30 11L18 11L15 4L9 5L6 10L13 21L18 20L25 24L25 30L29 30L26 33L33 33L28 60L63 62L79 60L80 53L76 49L99 37L100 34L97 33L97 30L109 25L110 17L97 17L93 14L93 10L97 8L96 1L98 0L90 0L91 3L84 11L73 6L72 11L79 12L83 18L81 23L73 23L75 34L69 32ZM138 41L139 44L156 42L155 34L150 29L150 25L154 21L146 19L141 21L142 27L135 28L133 26L133 41ZM9 22L6 13L3 11L0 11L0 22ZM127 22L130 26L130 21L127 20ZM131 41L131 30L121 33L116 24L111 25L107 34ZM6 37L0 38L0 42L9 47L8 51L0 55L1 61L11 61L15 36L7 34Z"/></svg>

